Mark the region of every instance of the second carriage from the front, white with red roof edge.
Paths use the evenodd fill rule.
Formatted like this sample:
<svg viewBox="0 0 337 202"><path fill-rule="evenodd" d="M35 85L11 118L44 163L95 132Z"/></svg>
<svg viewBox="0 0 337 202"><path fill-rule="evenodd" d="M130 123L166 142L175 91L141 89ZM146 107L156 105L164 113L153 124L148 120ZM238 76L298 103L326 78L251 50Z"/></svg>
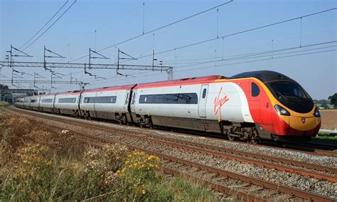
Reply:
<svg viewBox="0 0 337 202"><path fill-rule="evenodd" d="M128 105L132 87L134 85L104 87L83 91L80 105L82 116L113 119L124 124L131 122Z"/></svg>

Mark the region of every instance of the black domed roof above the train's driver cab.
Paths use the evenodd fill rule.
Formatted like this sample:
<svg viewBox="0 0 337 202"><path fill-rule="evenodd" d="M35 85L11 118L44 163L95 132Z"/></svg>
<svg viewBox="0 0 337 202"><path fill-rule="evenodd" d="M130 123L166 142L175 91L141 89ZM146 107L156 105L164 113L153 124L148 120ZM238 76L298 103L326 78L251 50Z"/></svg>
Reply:
<svg viewBox="0 0 337 202"><path fill-rule="evenodd" d="M273 80L289 80L295 82L294 80L287 77L286 75L283 75L282 73L277 73L269 70L240 73L237 75L233 75L228 79L236 79L236 78L257 78L261 80L263 83L271 82Z"/></svg>

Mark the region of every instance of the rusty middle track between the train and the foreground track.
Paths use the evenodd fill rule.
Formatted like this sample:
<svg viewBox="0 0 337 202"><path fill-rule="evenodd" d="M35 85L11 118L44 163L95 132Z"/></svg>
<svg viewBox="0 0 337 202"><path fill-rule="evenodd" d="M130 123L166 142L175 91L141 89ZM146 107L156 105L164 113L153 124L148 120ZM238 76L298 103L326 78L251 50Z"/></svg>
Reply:
<svg viewBox="0 0 337 202"><path fill-rule="evenodd" d="M65 120L65 122L68 122L68 124L76 124L80 127L88 126L88 124L83 124L81 122L73 123L68 120ZM302 176L309 176L309 177L316 178L316 179L323 179L326 181L337 182L337 177L333 176L333 174L337 174L337 170L331 167L319 166L315 164L306 164L304 162L290 161L287 159L280 159L276 157L269 157L269 156L264 156L264 155L259 155L259 154L251 154L251 153L244 152L244 151L235 151L233 149L214 147L208 144L198 144L194 142L186 142L183 140L173 139L173 138L168 138L168 137L159 137L153 134L130 132L126 129L112 129L112 128L104 127L102 125L97 125L97 124L90 124L90 127L97 129L97 130L104 130L105 132L108 132L108 133L127 136L127 137L131 137L134 139L142 139L144 141L153 142L156 144L165 144L169 147L175 147L178 149L185 149L189 151L196 151L202 154L208 154L208 155L218 156L218 157L225 158L225 159L241 161L241 162L245 162L248 164L254 164L256 166L267 167L268 169L287 171L292 174L300 174ZM237 155L235 156L233 154L237 154ZM246 156L249 156L250 158L247 158ZM273 163L279 163L279 162L282 162L283 164L286 164L287 166L273 164ZM304 169L291 168L291 166L289 165L302 167L305 169L313 169L314 171L306 171ZM316 171L323 171L326 173L330 173L332 175L321 174Z"/></svg>

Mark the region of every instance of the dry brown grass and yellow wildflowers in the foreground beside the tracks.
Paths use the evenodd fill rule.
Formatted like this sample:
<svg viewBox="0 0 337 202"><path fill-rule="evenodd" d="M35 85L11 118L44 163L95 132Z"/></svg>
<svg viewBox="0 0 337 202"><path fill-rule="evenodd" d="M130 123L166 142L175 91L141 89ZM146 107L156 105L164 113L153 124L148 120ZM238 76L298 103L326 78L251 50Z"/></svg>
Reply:
<svg viewBox="0 0 337 202"><path fill-rule="evenodd" d="M157 156L76 140L43 122L0 114L0 200L218 200L198 183L162 174Z"/></svg>

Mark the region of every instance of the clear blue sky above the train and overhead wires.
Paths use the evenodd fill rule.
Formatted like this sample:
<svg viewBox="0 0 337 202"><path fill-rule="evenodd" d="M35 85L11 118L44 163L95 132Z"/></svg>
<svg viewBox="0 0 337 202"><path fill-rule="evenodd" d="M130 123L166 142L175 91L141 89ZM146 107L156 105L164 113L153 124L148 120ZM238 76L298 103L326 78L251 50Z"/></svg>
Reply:
<svg viewBox="0 0 337 202"><path fill-rule="evenodd" d="M230 77L247 71L274 70L296 80L313 99L327 99L337 92L335 0L235 0L218 10L212 9L144 35L143 31L147 33L227 1L77 0L73 4L74 1L0 0L0 61L5 60L11 45L33 56L15 57L14 62L43 62L43 46L46 46L65 57L47 58L47 62L88 63L87 55L92 48L110 59L92 59L91 63L114 64L119 49L139 58L120 60L121 64L152 65L154 50L157 59L154 64L159 65L161 60L163 65L173 67L174 79L205 75ZM35 41L48 26L26 43L64 4L48 26L71 4L73 6L38 40ZM327 9L333 10L306 16ZM304 17L247 31L301 16ZM242 31L247 32L240 33ZM114 46L134 36L139 37ZM209 39L213 41L179 48ZM161 53L164 50L168 51ZM50 80L50 72L43 68L15 70L22 72L22 78L14 78L14 81L33 80L34 73L41 75L36 80ZM117 75L116 70L91 69L90 73L97 78L86 75L84 69L57 68L55 72L64 76L53 80L70 81L71 73L72 80L90 83L85 86L87 89L168 79L165 71L119 70L122 75ZM15 82L16 86L8 83L11 73L10 68L0 68L0 83L16 88ZM33 88L32 83L20 86ZM53 84L51 87L45 83L38 87L63 92L79 90L80 85Z"/></svg>

